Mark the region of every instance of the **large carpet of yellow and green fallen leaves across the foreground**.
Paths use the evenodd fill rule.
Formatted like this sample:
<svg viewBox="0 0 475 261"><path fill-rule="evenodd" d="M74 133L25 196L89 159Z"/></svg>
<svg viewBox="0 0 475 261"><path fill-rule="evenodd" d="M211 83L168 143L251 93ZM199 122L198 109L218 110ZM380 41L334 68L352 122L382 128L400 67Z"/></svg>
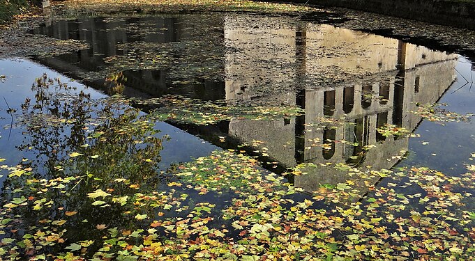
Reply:
<svg viewBox="0 0 475 261"><path fill-rule="evenodd" d="M179 180L161 192L120 177L86 185L85 177L36 179L27 168L3 168L10 179L24 180L1 207L0 255L13 260L455 260L475 251L475 214L461 210L474 191L473 172L448 177L427 168L358 173L347 167L353 178L307 195L229 150L179 166ZM345 200L361 177L390 174L394 183ZM206 202L223 192L234 197L222 209ZM58 201L67 197L82 200L82 208ZM90 216L91 222L86 211L124 222ZM26 226L31 217L38 223ZM84 232L89 237L68 235L77 223L91 230Z"/></svg>

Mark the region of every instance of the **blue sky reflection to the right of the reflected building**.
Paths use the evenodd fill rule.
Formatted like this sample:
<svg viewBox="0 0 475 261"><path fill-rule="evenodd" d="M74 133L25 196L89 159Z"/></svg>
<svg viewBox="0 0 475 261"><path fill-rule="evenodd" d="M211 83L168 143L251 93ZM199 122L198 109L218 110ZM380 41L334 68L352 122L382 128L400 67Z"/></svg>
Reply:
<svg viewBox="0 0 475 261"><path fill-rule="evenodd" d="M471 70L471 66L466 58L460 58L456 66L457 81L438 102L448 104L442 106L442 109L460 114L475 113L475 84L470 88L475 72ZM402 164L428 166L448 175L465 173L465 164L475 164L475 159L469 160L475 152L473 120L474 117L471 122L446 122L445 125L423 120L415 132L421 137L409 140L410 155ZM423 141L428 143L423 145Z"/></svg>

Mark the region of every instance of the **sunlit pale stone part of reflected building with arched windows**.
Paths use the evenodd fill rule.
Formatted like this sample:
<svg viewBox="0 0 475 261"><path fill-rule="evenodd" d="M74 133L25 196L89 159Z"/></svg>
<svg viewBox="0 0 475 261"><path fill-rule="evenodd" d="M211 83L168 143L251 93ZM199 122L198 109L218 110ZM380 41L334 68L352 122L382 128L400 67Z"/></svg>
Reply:
<svg viewBox="0 0 475 261"><path fill-rule="evenodd" d="M225 44L238 50L227 54L226 97L259 99L264 92L256 87L258 81L281 84L290 91L282 88L266 99L302 106L305 116L267 122L233 119L229 134L243 142L264 141L269 156L287 167L331 162L391 168L398 161L393 156L407 150L408 139L386 138L377 127L393 124L414 130L421 118L408 111L416 109L416 103L437 102L455 80L453 54L321 24L279 20L278 29L271 29L273 19L226 19ZM325 77L338 77L335 72L345 74L341 84L322 84ZM306 79L303 88L300 79ZM345 120L336 128L304 127L324 116ZM315 146L315 141L329 143L329 149ZM349 144L355 142L359 145ZM377 147L362 153L363 145ZM295 177L296 186L312 190L347 178L333 168L307 171L310 175Z"/></svg>

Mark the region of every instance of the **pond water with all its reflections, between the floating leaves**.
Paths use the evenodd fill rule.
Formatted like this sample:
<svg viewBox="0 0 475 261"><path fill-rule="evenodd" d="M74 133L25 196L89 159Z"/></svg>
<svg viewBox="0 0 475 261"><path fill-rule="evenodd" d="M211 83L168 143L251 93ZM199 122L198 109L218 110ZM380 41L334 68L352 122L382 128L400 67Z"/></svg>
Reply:
<svg viewBox="0 0 475 261"><path fill-rule="evenodd" d="M294 187L303 189L293 196L288 196L296 201L312 200L312 196L315 199L312 191L318 191L322 187L335 188L339 184L349 184L351 187L348 180L354 178L354 173L359 173L352 170L353 168L367 173L373 170L426 167L444 173L448 183L451 183L451 177L462 177L467 173L467 166L470 170L469 166L473 164L475 127L471 113L475 112L475 63L458 54L413 45L382 35L315 24L294 17L232 13L91 17L50 22L31 33L61 40L83 40L89 48L68 54L0 61L0 75L6 76L0 79L0 93L3 97L0 100L0 122L4 126L0 132L2 164L22 166L23 171L26 169L27 173L36 173L33 176L38 180L45 178L45 184L31 190L34 192L31 192L31 199L27 199L28 195L25 195L22 200L21 191L28 190L22 186L31 182L23 180L20 185L16 184L15 177L22 175L14 175L18 169L3 168L0 191L6 200L5 204L14 202L16 205L2 208L3 220L8 218L8 221L2 223L4 232L3 235L0 234L0 238L5 240L0 245L0 257L39 256L48 259L55 255L67 260L68 258L64 257L70 252L71 255L74 253L83 258L107 259L109 255L112 258L120 256L124 260L126 257L144 258L146 255L139 255L140 251L133 246L140 245L142 250L144 245L147 246L144 243L147 239L140 242L140 233L150 228L151 220L164 223L163 226L160 223L160 226L152 227L162 229L156 232L157 236L153 237L153 240L162 242L160 246L165 246L171 243L163 243L166 240L163 241L162 237L173 238L170 235L178 234L170 227L172 224L176 225L172 221L179 222L186 215L193 214L188 209L179 208L179 204L174 204L179 202L176 199L179 196L169 196L167 193L186 193L188 198L183 198L183 205L191 206L190 209L193 206L201 206L204 209L209 204L213 205L213 210L209 210L213 217L209 227L223 228L223 231L226 228L225 234L229 232L232 237L244 237L239 233L239 227L246 228L244 223L231 226L231 221L220 219L221 216L226 216L220 209L235 205L236 198L243 196L239 191L216 193L211 185L197 185L201 181L194 184L193 179L181 180L172 175L181 168L202 168L199 165L193 168L177 164L193 164L196 158L209 157L211 153L218 155L213 158L219 159L217 164L227 161L236 166L242 164L219 154L223 152L216 152L220 150L232 149L236 154L240 151L243 157L249 157L246 160L257 159L259 167L254 166L252 169L260 170L264 175L269 172L279 175L285 173L287 181ZM67 83L67 86L63 86L63 83ZM474 93L471 91L472 87ZM122 96L118 98L117 95ZM129 98L131 100L128 100ZM172 98L179 102L165 106L164 101ZM151 100L160 102L146 102ZM199 113L200 107L208 108L209 104L219 104L223 107L239 105L245 109L255 106L264 109L296 107L301 109L301 112L298 116L284 113L262 118L259 114L248 117L238 111L230 117L220 118L222 114L213 116L213 120L209 122L199 122L202 118L195 114L188 116L188 120L186 117L180 120L167 114L167 117L160 118L162 120L146 121L151 122L151 126L130 123L130 119L139 119L138 122L141 122L141 117L152 115L156 109L162 112L169 110L176 114L177 111L174 110L180 111L186 101L195 103L196 108L187 105L181 113L190 113L190 108L197 109L195 112ZM139 111L129 112L132 108ZM262 111L262 115L266 116L266 111ZM128 117L124 119L121 115ZM109 135L108 129L117 129L118 124L126 126L119 127L119 136L106 136ZM107 142L114 144L105 145ZM88 146L95 150L85 152L83 149ZM107 155L107 152L109 156L103 156ZM80 161L83 156L86 159ZM149 161L153 161L153 166L145 166ZM110 167L107 167L108 165ZM246 165L243 164L242 167L244 166ZM89 177L94 171L107 173L110 177ZM299 175L300 172L305 175ZM156 173L156 177L153 177L153 173ZM260 177L261 174L256 171L253 175ZM52 182L56 177L66 179L68 176L81 177L76 179L79 185L68 187L62 180L56 181L57 184L46 184L47 180ZM137 198L137 194L133 192L133 189L137 189L135 187L107 187L107 184L114 183L114 179L116 182L119 179L120 182L121 177L131 180L130 184L141 187L143 190L139 192L142 195L158 191L164 200L169 197L169 207L166 207L166 210L153 210L152 207L151 213L155 216L148 214L145 218L140 216L140 211L137 213L137 207L133 207L133 210L121 208L127 204L127 198L116 198L119 201L114 203L119 202L119 205L123 202L121 200L126 200L120 207L115 207L112 203L112 207L106 204L106 194L110 196L119 191L123 193L119 193L119 196ZM98 184L94 184L92 180ZM409 180L414 181L411 178ZM190 184L187 189L185 186L173 187L170 182ZM424 195L431 195L423 185L418 188L405 187L407 182L407 177L399 179L398 175L393 174L389 174L389 177L369 177L364 180L363 188L353 195L353 200L349 200L351 203L345 200L342 202L356 204L355 202L368 200L373 203L372 199L378 196L378 192L374 191L375 187L394 187L395 184L401 187L395 189L394 193L405 195L401 196L404 198L417 193L422 193L422 198ZM457 182L453 183L455 187ZM66 186L71 193L59 196L59 192L51 192L54 195L47 196L45 198L48 200L38 203L44 205L42 210L35 210L38 213L20 209L36 204L33 204L33 201L36 197L40 198L41 186L51 188L58 184ZM223 186L224 184L227 183L224 182ZM432 185L437 186L437 183L430 183L430 186ZM195 186L202 187L196 190ZM80 187L81 191L73 193L77 187ZM203 193L204 187L210 192ZM259 191L257 187L252 188ZM218 187L218 191L220 189L223 188ZM91 195L98 190L107 193L102 196L100 193ZM462 187L460 193L469 195L472 190L470 187ZM447 195L445 198L450 198L450 195ZM88 197L93 200L97 198L93 201L95 203L100 198L104 201L92 206L86 205L83 201ZM139 201L135 202L136 206L141 206ZM48 202L54 202L50 203L53 207L47 207ZM290 201L286 203L289 204ZM468 196L464 203L465 207L451 207L462 209L460 211L468 216L468 213L473 213L471 206L475 205L475 201L470 200ZM331 204L338 205L335 201ZM285 204L282 206L285 207ZM150 205L147 207L150 208ZM327 209L332 207L334 205L329 205ZM409 213L416 221L416 209L418 206L414 206L410 212L402 211L402 214L398 215L401 218ZM66 216L63 210L67 211ZM197 212L200 211L202 210ZM425 208L425 211L428 211L428 208ZM133 216L130 216L130 213L133 213ZM383 213L386 212L378 212L375 218L384 217ZM19 219L21 221L17 221ZM41 228L46 226L45 224L54 227L58 220L63 219L66 223L63 232L59 232L59 228L50 229L51 231ZM472 220L472 216L467 219ZM147 220L149 223L145 222ZM232 219L234 220L236 219ZM51 225L51 222L55 221L56 224ZM256 222L255 224L263 225L262 220ZM402 229L400 224L395 223L386 224L384 228L394 231ZM345 224L351 227L348 223ZM439 231L436 225L432 225L435 231ZM407 226L422 230L422 225L419 224ZM104 243L105 239L100 239L104 237L106 227L118 228L122 232L139 232L137 237L128 237L130 233L123 232L127 239L119 241L123 240L127 244L122 246L116 242L107 242L110 245L108 246ZM264 233L264 228L250 228L254 229L253 232ZM198 230L203 228L199 227ZM266 228L265 231L268 230L269 228ZM442 237L442 230L448 231L450 236L442 243L436 242L437 247L428 246L427 240ZM414 242L420 240L424 243L410 247L405 245L405 237L399 236L402 242L395 243L395 248L392 248L392 244L391 247L383 244L395 251L386 254L404 258L421 258L424 255L456 258L471 253L470 244L458 242L460 238L452 235L452 231L456 230L458 234L463 228L447 226L442 230L442 234L434 233L432 237L414 235ZM472 227L467 226L467 230L471 231ZM465 232L470 239L472 234L467 230ZM36 231L50 231L50 234L46 233L47 235L42 237L37 235ZM361 238L366 235L363 231L365 230L361 228L361 233L358 234ZM391 231L388 235L392 237ZM193 235L193 244L199 244L194 240L202 234L197 231L190 233ZM113 234L114 231L110 232L110 235ZM31 235L36 243L31 243L34 242L31 239L27 246L24 242L18 244L16 248L20 250L11 248L13 241L10 239L30 238L25 238L25 235ZM58 235L58 238L62 237L66 241L52 239L53 235ZM326 232L326 235L331 233ZM352 233L349 233L349 236L351 235ZM408 233L407 237L409 236ZM48 241L47 237L51 240ZM325 244L326 248L322 248L324 251L315 252L320 253L319 256L322 257L333 257L334 253L335 256L346 258L387 258L378 252L382 247L374 243L375 239L367 241L349 237L352 242L349 245L356 247L350 247L349 252L343 255L339 252L342 251L341 245L347 245L348 242L339 241L336 236L335 238L336 241L330 240L330 243ZM88 240L93 242L87 243ZM400 242L393 237L389 240ZM229 247L229 241L225 242ZM235 243L238 244L237 239ZM258 243L261 247L264 245L265 249L270 244L264 239ZM33 246L29 247L28 244ZM180 244L189 246L183 242ZM335 244L335 249L338 250L329 244ZM377 247L374 248L372 244ZM372 253L363 251L363 246L364 249L373 247ZM172 249L172 246L169 248ZM264 248L250 251L249 256L264 255L267 253ZM288 255L296 256L288 246L286 248ZM306 251L312 253L308 249L316 248L312 245L310 248L300 249L301 253L296 252L304 255ZM183 246L169 252L157 249L154 248L156 255L167 256L179 253ZM361 253L353 253L355 249L363 254L360 256ZM190 252L199 252L193 251ZM242 249L239 251L248 253ZM218 254L214 253L211 257L215 255Z"/></svg>

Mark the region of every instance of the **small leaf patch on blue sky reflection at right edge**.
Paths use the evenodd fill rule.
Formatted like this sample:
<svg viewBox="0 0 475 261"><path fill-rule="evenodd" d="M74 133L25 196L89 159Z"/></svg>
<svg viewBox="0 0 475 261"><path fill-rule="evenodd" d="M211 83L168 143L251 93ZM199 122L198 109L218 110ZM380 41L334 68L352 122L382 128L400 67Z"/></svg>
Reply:
<svg viewBox="0 0 475 261"><path fill-rule="evenodd" d="M442 106L447 104L416 104L416 106L416 111L409 112L435 122L468 122L474 116L472 113L462 115L443 109Z"/></svg>

